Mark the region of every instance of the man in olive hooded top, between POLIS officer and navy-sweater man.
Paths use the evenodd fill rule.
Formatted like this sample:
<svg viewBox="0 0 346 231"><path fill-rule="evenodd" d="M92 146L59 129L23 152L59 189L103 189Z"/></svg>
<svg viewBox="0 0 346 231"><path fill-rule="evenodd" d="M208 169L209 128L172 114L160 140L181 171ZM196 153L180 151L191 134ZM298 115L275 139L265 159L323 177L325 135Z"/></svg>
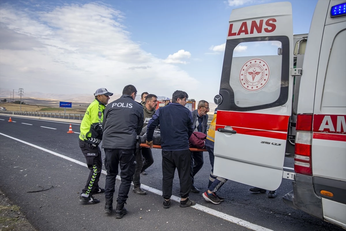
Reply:
<svg viewBox="0 0 346 231"><path fill-rule="evenodd" d="M157 106L157 96L149 94L146 96L145 104L143 108L144 112L144 124L143 127L147 126L149 120L155 114ZM143 163L143 157L145 159L145 165ZM145 195L147 192L140 187L140 174L149 168L154 163L153 153L150 148L139 148L138 154L136 156L136 170L133 175L133 189L134 193L139 195Z"/></svg>

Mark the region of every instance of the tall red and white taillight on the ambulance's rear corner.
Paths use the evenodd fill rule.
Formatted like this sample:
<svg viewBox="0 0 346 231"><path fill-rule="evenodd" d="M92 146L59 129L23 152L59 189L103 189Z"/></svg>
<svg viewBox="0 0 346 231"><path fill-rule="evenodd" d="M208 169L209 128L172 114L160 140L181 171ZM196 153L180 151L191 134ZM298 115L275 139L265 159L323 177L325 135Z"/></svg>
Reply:
<svg viewBox="0 0 346 231"><path fill-rule="evenodd" d="M294 171L311 176L312 114L297 115L295 129L297 134L294 145Z"/></svg>

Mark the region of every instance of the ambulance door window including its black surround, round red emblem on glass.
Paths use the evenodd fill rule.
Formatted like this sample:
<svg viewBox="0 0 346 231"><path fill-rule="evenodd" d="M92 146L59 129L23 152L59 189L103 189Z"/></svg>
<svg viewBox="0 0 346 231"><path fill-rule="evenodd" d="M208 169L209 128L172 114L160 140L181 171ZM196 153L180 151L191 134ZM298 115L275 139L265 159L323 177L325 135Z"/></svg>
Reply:
<svg viewBox="0 0 346 231"><path fill-rule="evenodd" d="M220 110L247 112L284 105L290 67L286 36L231 39L222 66Z"/></svg>

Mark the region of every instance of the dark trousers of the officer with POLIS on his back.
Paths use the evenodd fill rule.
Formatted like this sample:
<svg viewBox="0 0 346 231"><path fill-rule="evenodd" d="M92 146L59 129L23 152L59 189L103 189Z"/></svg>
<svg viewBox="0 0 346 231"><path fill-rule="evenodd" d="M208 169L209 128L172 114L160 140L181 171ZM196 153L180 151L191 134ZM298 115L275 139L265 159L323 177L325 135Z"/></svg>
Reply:
<svg viewBox="0 0 346 231"><path fill-rule="evenodd" d="M115 180L120 165L121 183L118 191L117 201L119 204L125 202L131 187L132 176L135 173L136 157L135 150L104 149L104 166L107 170L105 197L113 197L115 192Z"/></svg>

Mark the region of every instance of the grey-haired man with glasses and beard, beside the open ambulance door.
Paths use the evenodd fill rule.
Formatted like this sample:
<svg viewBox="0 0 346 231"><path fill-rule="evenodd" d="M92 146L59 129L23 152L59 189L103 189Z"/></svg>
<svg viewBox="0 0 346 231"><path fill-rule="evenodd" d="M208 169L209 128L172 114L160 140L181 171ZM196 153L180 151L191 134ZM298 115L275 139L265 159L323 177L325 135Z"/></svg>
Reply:
<svg viewBox="0 0 346 231"><path fill-rule="evenodd" d="M192 112L193 131L202 132L207 135L209 103L206 100L198 102L197 109ZM203 166L203 152L191 152L191 192L199 193L200 190L194 186L194 176Z"/></svg>

